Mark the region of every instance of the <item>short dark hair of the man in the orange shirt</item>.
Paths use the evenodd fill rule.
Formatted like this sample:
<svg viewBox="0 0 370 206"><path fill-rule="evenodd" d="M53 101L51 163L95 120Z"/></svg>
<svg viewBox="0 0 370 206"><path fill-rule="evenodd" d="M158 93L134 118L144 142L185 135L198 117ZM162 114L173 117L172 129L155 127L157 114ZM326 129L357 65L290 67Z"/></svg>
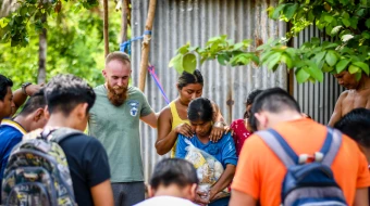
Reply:
<svg viewBox="0 0 370 206"><path fill-rule="evenodd" d="M300 113L300 107L294 98L282 88L271 88L263 90L255 99L251 106L250 118L248 119L250 127L257 131L256 113L268 111L270 113L281 113L284 111L295 111Z"/></svg>

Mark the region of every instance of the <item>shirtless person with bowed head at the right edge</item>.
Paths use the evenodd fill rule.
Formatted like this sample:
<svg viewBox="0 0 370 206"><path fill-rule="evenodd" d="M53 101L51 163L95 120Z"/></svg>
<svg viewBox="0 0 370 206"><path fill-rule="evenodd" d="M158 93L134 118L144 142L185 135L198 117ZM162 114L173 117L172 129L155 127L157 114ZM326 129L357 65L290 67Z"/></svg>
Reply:
<svg viewBox="0 0 370 206"><path fill-rule="evenodd" d="M338 83L347 90L342 92L336 101L334 112L330 118L329 126L333 127L343 116L355 108L370 108L370 78L365 73L360 80L355 75L344 70L334 75Z"/></svg>

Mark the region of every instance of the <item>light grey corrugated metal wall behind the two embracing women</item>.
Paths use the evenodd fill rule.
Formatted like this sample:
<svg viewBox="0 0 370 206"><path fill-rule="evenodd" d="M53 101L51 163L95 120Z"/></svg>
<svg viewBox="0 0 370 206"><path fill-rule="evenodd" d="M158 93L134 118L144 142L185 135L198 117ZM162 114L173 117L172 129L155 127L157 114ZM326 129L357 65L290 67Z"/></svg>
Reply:
<svg viewBox="0 0 370 206"><path fill-rule="evenodd" d="M175 89L177 74L168 63L175 55L176 49L189 41L194 46L203 46L213 36L226 34L229 38L258 39L283 36L285 24L268 18L266 10L271 0L158 0L156 21L152 29L150 63L170 100L177 96ZM278 2L278 1L276 1ZM132 1L133 37L144 33L148 0ZM252 50L255 47L251 48ZM138 82L140 42L132 46L133 80ZM256 88L280 86L287 87L284 69L270 73L266 68L254 66L222 67L217 62L209 62L199 67L205 76L203 96L217 102L223 116L231 123L240 118L248 92ZM145 93L156 112L165 106L155 82L147 77ZM229 103L229 105L227 105ZM155 149L157 130L141 124L141 149L145 178L148 180L152 167L160 158Z"/></svg>

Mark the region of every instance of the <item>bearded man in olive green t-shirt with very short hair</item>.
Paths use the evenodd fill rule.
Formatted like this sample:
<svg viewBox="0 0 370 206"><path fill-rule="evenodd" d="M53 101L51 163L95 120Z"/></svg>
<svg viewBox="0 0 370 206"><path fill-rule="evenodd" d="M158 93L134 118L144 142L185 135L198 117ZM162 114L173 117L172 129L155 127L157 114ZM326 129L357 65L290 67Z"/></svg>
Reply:
<svg viewBox="0 0 370 206"><path fill-rule="evenodd" d="M107 150L114 204L134 205L145 198L139 120L157 128L157 116L144 93L128 86L127 54L110 53L102 75L106 83L94 89L97 100L90 111L89 134Z"/></svg>

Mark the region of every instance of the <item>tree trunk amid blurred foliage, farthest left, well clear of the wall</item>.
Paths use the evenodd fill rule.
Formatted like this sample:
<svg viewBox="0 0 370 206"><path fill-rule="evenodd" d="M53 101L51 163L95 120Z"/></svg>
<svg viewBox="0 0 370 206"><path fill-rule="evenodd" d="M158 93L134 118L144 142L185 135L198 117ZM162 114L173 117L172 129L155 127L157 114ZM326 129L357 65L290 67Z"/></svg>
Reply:
<svg viewBox="0 0 370 206"><path fill-rule="evenodd" d="M46 14L42 16L42 23L47 21ZM37 83L46 82L46 59L47 59L47 29L42 28L42 31L38 36L38 74Z"/></svg>

